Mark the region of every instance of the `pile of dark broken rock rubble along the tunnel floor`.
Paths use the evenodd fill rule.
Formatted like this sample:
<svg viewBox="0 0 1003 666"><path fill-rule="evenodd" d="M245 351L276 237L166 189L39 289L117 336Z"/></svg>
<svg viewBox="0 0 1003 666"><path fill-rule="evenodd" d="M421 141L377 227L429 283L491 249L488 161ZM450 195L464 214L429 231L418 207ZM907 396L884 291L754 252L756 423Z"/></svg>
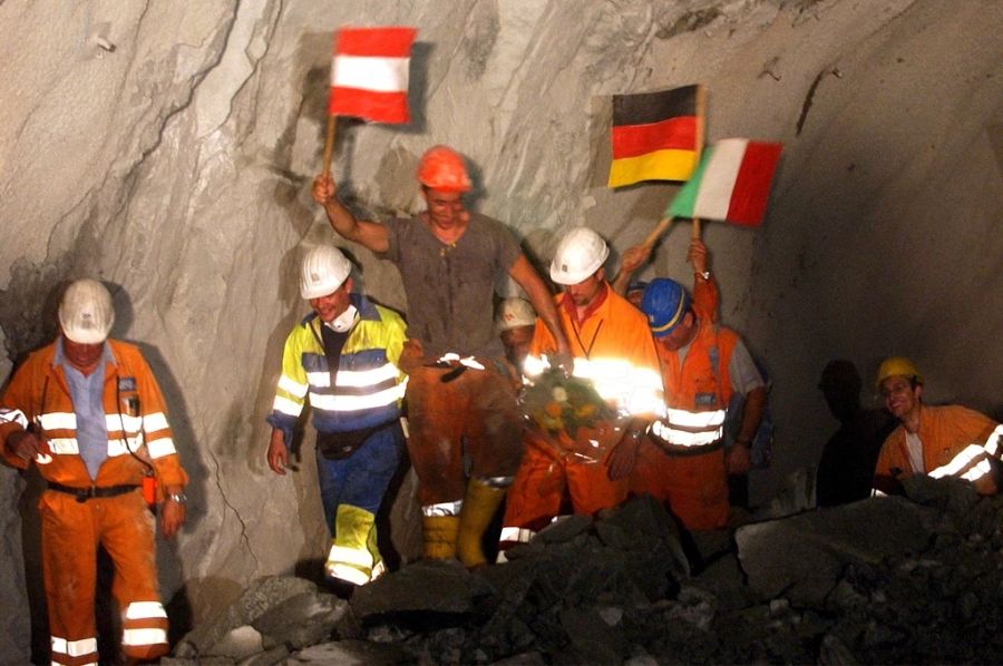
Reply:
<svg viewBox="0 0 1003 666"><path fill-rule="evenodd" d="M999 663L1003 498L907 491L685 540L641 498L506 565L419 561L350 601L265 578L162 663Z"/></svg>

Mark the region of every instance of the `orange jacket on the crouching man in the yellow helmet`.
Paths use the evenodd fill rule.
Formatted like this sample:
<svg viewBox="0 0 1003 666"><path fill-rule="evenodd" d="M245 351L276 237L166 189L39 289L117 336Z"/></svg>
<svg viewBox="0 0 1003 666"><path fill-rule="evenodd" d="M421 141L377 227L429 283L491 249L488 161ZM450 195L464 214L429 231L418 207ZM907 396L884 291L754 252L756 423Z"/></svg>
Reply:
<svg viewBox="0 0 1003 666"><path fill-rule="evenodd" d="M923 405L919 409L919 441L923 442L923 467L925 473L954 460L968 444L983 445L997 423L967 408L948 404L944 407ZM909 448L906 444L905 427L899 424L885 440L875 466L875 486L884 486L887 480L902 481L914 473L909 463ZM983 494L995 494L996 484L992 474L975 481L975 489Z"/></svg>

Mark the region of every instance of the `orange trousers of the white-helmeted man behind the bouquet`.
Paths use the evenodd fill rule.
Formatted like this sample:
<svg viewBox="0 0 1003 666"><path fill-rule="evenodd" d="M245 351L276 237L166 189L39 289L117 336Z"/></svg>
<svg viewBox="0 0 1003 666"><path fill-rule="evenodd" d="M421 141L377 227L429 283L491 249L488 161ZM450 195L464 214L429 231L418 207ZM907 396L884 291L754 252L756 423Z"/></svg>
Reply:
<svg viewBox="0 0 1003 666"><path fill-rule="evenodd" d="M575 513L591 516L615 507L626 499L629 486L626 479L610 480L607 458L608 450L603 450L600 460L561 454L538 433L527 432L526 452L508 489L503 525L538 530L561 515L565 490Z"/></svg>

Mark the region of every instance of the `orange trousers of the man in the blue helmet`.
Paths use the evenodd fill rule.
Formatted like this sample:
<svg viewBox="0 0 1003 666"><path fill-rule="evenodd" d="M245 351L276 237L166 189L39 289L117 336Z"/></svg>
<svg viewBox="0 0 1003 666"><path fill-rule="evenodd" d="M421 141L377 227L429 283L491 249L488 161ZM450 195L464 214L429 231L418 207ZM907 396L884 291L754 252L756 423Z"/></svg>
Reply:
<svg viewBox="0 0 1003 666"><path fill-rule="evenodd" d="M631 492L662 501L686 529L722 528L729 509L724 448L669 454L645 437L631 474Z"/></svg>

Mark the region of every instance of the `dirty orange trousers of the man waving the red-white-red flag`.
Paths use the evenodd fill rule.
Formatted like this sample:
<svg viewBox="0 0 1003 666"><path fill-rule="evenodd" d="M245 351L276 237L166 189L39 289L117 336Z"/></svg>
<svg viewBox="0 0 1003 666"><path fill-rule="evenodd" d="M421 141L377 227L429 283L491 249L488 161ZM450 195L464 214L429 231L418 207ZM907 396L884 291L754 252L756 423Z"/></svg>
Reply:
<svg viewBox="0 0 1003 666"><path fill-rule="evenodd" d="M523 421L513 375L487 359L485 370L420 366L408 376L408 454L422 507L464 498L468 478L512 477L523 453ZM505 368L507 371L507 368Z"/></svg>

